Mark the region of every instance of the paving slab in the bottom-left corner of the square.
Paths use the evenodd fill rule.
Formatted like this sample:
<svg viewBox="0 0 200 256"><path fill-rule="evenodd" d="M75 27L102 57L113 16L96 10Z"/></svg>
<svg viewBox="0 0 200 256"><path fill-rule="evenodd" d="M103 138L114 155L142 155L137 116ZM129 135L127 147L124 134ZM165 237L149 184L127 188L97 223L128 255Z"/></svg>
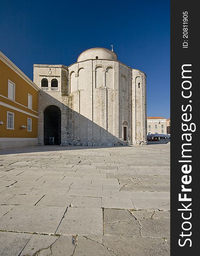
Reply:
<svg viewBox="0 0 200 256"><path fill-rule="evenodd" d="M18 256L32 234L0 232L0 255Z"/></svg>

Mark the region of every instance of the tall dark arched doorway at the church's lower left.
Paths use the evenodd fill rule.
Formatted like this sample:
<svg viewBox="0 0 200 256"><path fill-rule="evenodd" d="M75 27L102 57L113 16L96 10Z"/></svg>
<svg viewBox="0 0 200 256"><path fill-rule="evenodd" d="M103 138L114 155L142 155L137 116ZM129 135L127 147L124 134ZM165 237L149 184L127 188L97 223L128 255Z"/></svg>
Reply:
<svg viewBox="0 0 200 256"><path fill-rule="evenodd" d="M60 145L61 111L57 106L49 106L44 111L44 145Z"/></svg>

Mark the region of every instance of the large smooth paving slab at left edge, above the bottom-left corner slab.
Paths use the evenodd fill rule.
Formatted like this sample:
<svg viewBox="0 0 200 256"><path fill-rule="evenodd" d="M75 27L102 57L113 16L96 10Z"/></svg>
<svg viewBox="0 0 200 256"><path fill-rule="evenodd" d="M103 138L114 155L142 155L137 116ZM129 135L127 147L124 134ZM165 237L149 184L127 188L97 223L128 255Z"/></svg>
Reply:
<svg viewBox="0 0 200 256"><path fill-rule="evenodd" d="M66 207L16 205L0 218L0 230L54 234Z"/></svg>

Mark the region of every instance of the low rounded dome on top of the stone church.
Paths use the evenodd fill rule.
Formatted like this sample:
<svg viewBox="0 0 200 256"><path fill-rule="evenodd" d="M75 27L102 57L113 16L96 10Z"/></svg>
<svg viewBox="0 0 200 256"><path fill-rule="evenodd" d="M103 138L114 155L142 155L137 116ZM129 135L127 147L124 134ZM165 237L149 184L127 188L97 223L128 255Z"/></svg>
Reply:
<svg viewBox="0 0 200 256"><path fill-rule="evenodd" d="M91 48L82 52L77 62L86 61L89 59L105 59L105 60L117 60L117 55L113 51L106 48Z"/></svg>

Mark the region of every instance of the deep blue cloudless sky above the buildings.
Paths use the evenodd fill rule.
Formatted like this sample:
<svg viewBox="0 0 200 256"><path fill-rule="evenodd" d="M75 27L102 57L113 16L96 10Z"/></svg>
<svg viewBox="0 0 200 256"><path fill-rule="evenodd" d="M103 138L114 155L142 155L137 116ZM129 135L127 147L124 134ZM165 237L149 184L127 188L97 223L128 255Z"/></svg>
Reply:
<svg viewBox="0 0 200 256"><path fill-rule="evenodd" d="M170 117L170 1L1 0L0 50L29 78L33 64L111 49L147 75L147 115Z"/></svg>

